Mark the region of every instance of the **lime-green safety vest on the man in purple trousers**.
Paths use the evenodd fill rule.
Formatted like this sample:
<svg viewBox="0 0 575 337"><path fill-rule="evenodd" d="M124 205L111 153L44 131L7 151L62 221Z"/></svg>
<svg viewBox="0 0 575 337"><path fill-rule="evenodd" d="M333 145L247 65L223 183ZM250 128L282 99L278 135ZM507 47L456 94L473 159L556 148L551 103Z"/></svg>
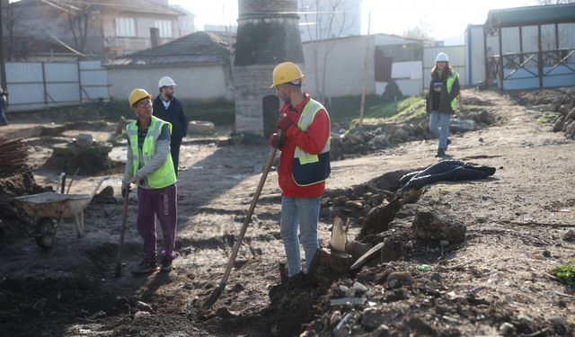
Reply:
<svg viewBox="0 0 575 337"><path fill-rule="evenodd" d="M172 134L172 123L160 120L152 116L150 120L150 127L147 129L146 138L144 139L144 146L140 150L137 146L137 122L131 122L126 127L126 134L128 135L129 145L132 148L132 175L136 176L140 164L140 158L144 165L150 162L155 154L155 145L157 144L158 137L162 133L162 127L168 125L170 134ZM146 177L147 184L154 189L162 189L170 186L176 182L176 172L173 169L172 155L168 152L164 164L160 166L155 172L148 174Z"/></svg>

